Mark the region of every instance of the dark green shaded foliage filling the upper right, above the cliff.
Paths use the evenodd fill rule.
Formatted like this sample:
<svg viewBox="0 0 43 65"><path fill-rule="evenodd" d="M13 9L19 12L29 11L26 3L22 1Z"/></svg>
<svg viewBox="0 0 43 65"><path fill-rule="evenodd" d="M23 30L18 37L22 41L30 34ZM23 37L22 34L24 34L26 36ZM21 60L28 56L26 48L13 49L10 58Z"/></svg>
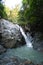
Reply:
<svg viewBox="0 0 43 65"><path fill-rule="evenodd" d="M41 30L43 27L43 0L23 0L22 8L23 13L20 14L24 20L28 21L27 23L30 23L34 30L36 27Z"/></svg>

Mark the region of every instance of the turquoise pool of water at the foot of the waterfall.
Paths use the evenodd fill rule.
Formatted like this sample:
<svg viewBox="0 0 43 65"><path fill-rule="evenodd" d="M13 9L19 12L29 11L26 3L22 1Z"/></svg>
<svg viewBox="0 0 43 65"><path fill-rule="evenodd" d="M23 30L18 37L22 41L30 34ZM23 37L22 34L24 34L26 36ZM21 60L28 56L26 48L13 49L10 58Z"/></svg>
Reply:
<svg viewBox="0 0 43 65"><path fill-rule="evenodd" d="M18 56L22 59L32 60L35 63L43 62L43 52L38 52L27 46L23 46L16 49L8 49L7 52L5 53L5 56L7 57Z"/></svg>

